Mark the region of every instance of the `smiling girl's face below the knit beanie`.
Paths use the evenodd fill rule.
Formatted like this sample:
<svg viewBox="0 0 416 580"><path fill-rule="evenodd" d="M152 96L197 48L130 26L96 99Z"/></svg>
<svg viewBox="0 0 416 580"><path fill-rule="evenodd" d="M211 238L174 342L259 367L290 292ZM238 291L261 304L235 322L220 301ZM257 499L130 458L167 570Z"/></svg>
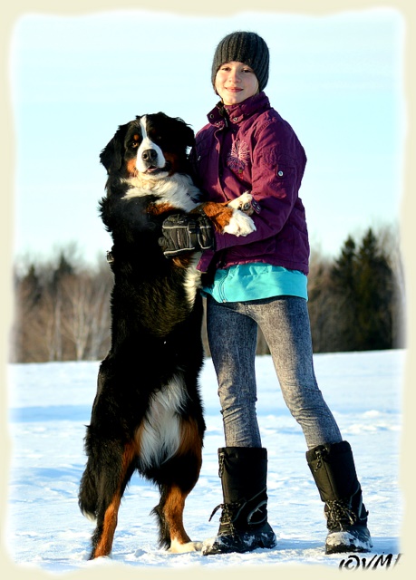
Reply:
<svg viewBox="0 0 416 580"><path fill-rule="evenodd" d="M224 63L215 77L215 89L225 105L235 105L258 92L256 74L245 63Z"/></svg>

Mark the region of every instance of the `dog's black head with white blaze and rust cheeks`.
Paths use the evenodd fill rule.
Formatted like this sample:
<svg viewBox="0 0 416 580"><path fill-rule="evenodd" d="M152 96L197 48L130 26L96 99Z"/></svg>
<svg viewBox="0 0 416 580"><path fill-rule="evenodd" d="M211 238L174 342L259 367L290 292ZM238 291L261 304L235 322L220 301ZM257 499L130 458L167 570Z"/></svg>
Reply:
<svg viewBox="0 0 416 580"><path fill-rule="evenodd" d="M185 121L163 112L136 117L121 125L100 160L109 175L161 179L186 171L194 132Z"/></svg>

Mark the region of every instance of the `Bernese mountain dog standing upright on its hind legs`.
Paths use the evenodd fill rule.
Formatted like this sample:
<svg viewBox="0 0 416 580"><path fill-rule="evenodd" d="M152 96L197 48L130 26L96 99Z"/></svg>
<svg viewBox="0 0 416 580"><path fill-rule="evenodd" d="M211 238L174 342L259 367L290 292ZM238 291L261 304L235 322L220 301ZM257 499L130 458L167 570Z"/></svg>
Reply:
<svg viewBox="0 0 416 580"><path fill-rule="evenodd" d="M160 547L200 548L183 526L205 430L198 255L169 259L158 240L164 219L195 210L228 233L246 236L256 227L248 193L228 205L200 203L189 176L193 143L189 125L159 112L121 125L100 156L108 173L100 209L113 241L114 285L111 349L98 373L79 491L82 513L96 522L91 558L111 554L121 498L135 470L160 491L153 509Z"/></svg>

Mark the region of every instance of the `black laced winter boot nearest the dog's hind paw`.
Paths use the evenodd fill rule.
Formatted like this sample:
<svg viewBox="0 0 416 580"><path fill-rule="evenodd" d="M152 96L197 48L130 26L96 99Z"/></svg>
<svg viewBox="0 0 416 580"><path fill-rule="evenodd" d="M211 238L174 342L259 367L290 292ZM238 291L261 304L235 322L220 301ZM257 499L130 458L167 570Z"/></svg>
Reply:
<svg viewBox="0 0 416 580"><path fill-rule="evenodd" d="M251 552L257 547L276 546L276 536L267 523L267 450L254 447L218 449L219 477L224 503L218 536L206 540L202 554ZM210 518L209 518L210 519Z"/></svg>

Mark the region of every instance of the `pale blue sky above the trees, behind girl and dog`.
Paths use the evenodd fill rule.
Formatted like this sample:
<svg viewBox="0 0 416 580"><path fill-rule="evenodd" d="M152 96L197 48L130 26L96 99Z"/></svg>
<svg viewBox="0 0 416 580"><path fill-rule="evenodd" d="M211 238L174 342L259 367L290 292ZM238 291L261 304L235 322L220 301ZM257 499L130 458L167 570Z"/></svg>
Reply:
<svg viewBox="0 0 416 580"><path fill-rule="evenodd" d="M266 94L304 144L300 196L312 246L336 255L349 234L399 221L406 103L398 11L25 14L10 57L16 255L49 256L71 241L88 260L105 254L100 151L137 114L164 111L198 131L217 102L215 47L237 29L265 38Z"/></svg>

